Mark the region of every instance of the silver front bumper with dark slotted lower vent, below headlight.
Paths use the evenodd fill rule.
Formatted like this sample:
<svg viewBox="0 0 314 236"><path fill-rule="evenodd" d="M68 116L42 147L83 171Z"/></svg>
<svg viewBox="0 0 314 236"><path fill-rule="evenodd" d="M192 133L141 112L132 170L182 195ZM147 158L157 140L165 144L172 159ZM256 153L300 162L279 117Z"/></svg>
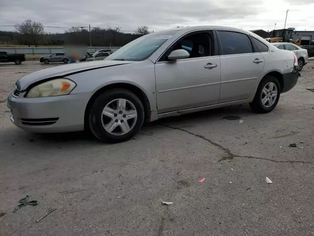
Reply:
<svg viewBox="0 0 314 236"><path fill-rule="evenodd" d="M84 113L92 92L55 97L25 98L8 96L11 121L35 133L80 131L84 129Z"/></svg>

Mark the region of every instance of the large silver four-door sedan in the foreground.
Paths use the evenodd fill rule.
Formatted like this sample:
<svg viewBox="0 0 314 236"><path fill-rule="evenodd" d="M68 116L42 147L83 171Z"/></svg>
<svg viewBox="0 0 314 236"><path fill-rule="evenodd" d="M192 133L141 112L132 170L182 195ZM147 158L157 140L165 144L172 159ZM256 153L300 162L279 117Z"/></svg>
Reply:
<svg viewBox="0 0 314 236"><path fill-rule="evenodd" d="M297 80L295 54L252 32L187 27L137 38L105 60L27 74L7 106L22 129L89 129L114 143L169 116L241 103L270 112Z"/></svg>

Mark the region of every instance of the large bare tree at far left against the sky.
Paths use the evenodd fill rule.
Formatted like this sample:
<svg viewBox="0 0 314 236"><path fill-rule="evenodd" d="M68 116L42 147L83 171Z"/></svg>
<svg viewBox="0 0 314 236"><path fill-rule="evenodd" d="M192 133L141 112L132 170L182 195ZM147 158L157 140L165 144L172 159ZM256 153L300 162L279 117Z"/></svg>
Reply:
<svg viewBox="0 0 314 236"><path fill-rule="evenodd" d="M15 29L26 36L28 45L34 43L35 47L44 34L43 24L31 20L25 20L21 24L15 25Z"/></svg>

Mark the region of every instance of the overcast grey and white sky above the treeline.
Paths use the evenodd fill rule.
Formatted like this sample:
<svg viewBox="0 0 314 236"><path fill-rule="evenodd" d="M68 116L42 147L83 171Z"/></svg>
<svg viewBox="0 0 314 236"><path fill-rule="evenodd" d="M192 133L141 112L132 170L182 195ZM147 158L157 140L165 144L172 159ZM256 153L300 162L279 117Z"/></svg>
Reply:
<svg viewBox="0 0 314 236"><path fill-rule="evenodd" d="M314 0L0 0L0 25L26 19L53 27L148 26L162 30L177 26L222 25L242 29L286 28L314 30ZM0 30L14 30L2 27ZM63 32L65 28L45 28Z"/></svg>

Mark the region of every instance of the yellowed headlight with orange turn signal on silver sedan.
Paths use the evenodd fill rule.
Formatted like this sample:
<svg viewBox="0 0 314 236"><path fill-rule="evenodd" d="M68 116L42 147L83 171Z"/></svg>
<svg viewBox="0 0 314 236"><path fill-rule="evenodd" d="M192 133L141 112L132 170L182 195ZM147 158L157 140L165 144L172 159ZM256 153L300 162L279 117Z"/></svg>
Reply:
<svg viewBox="0 0 314 236"><path fill-rule="evenodd" d="M69 94L76 87L76 83L68 79L54 79L44 82L30 89L26 97L52 97Z"/></svg>

